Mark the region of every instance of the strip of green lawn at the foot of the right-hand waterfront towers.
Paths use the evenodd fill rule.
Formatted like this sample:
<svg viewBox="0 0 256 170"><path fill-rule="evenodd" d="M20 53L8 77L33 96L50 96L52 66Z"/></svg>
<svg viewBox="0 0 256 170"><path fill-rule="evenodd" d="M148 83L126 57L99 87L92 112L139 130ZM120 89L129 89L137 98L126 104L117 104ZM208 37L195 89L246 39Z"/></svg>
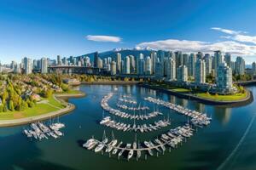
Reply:
<svg viewBox="0 0 256 170"><path fill-rule="evenodd" d="M196 94L198 97L204 98L204 99L212 99L217 101L231 101L231 100L239 100L244 99L247 97L247 93L244 94L232 94L232 95L211 95L211 94L205 94L205 93L199 93Z"/></svg>

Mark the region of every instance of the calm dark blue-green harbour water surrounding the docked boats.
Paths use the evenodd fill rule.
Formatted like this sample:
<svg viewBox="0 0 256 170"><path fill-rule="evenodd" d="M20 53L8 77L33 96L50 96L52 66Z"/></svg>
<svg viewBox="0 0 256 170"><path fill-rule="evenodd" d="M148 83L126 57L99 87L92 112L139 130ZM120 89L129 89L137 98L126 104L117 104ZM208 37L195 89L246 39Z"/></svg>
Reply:
<svg viewBox="0 0 256 170"><path fill-rule="evenodd" d="M205 111L212 115L210 126L201 128L187 143L183 143L171 153L164 156L148 157L136 161L124 159L118 161L115 156L95 154L81 147L85 139L94 135L102 138L106 129L110 137L111 129L99 125L102 119L100 101L105 94L113 91L115 86L81 86L87 96L81 99L69 99L76 109L60 117L66 124L61 131L65 136L61 139L44 139L30 141L22 133L27 126L0 128L0 169L256 169L256 114L255 101L246 106L236 108L202 105L195 101L158 93L137 86L119 86L119 94L132 94L142 105L153 108L154 105L143 101L144 96L157 96L160 99L183 105L193 110ZM256 87L249 87L256 94ZM115 106L118 95L110 99L109 104ZM152 139L165 132L170 127L177 127L187 122L185 116L180 116L165 108L158 108L167 116L170 115L172 125L154 133L138 133L137 139ZM105 116L108 113L105 113ZM154 122L162 116L147 122ZM115 117L115 120L124 121ZM127 121L126 121L127 122ZM132 122L131 122L132 123ZM139 122L137 122L139 123ZM132 143L135 133L121 133L113 130L116 139Z"/></svg>

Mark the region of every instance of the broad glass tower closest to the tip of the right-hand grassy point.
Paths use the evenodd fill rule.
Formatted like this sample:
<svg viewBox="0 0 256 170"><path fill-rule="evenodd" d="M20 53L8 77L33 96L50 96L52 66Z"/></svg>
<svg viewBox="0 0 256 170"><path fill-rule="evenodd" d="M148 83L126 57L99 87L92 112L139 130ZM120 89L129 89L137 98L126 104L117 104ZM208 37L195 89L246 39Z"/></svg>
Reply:
<svg viewBox="0 0 256 170"><path fill-rule="evenodd" d="M217 73L217 88L219 90L226 90L232 88L232 70L226 63L218 65Z"/></svg>

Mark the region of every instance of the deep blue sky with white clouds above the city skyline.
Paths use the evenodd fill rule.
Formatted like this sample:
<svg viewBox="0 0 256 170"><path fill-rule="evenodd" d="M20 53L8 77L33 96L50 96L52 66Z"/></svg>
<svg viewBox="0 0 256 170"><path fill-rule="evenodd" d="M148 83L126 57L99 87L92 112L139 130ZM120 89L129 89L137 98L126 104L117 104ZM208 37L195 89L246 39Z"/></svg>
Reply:
<svg viewBox="0 0 256 170"><path fill-rule="evenodd" d="M113 48L228 51L256 61L256 1L0 0L0 60Z"/></svg>

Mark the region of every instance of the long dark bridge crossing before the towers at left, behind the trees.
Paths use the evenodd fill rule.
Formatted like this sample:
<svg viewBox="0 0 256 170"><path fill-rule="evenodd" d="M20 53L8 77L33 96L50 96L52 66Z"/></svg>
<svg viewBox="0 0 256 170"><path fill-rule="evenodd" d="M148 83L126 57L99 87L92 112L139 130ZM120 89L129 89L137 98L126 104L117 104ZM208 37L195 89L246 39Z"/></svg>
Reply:
<svg viewBox="0 0 256 170"><path fill-rule="evenodd" d="M77 65L54 65L48 67L49 73L59 74L105 74L106 69Z"/></svg>

